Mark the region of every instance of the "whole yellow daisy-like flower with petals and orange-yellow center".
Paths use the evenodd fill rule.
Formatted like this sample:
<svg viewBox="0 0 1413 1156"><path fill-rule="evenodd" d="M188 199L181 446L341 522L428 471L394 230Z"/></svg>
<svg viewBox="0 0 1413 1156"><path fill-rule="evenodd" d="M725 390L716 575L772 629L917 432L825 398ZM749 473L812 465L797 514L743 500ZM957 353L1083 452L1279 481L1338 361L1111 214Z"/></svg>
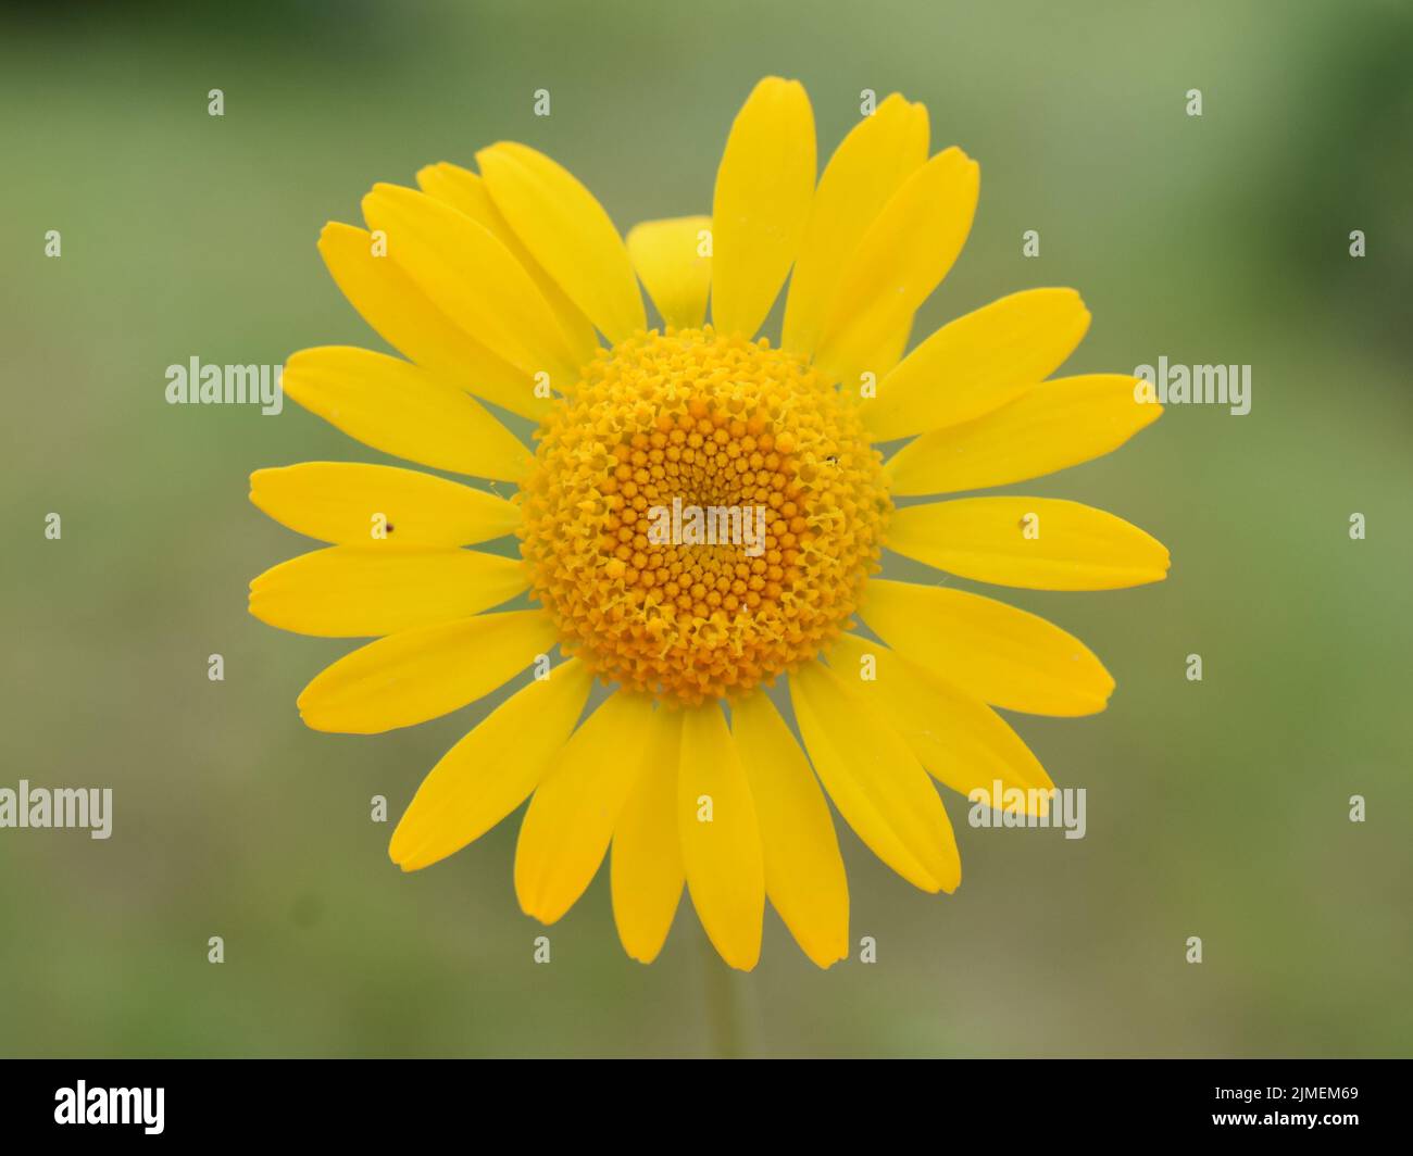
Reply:
<svg viewBox="0 0 1413 1156"><path fill-rule="evenodd" d="M259 471L256 506L332 545L252 582L250 609L377 637L300 697L318 731L410 726L537 667L427 776L393 834L404 871L530 798L514 865L528 914L554 923L610 854L633 958L658 954L685 885L732 967L755 967L767 896L828 967L848 952L849 902L825 791L904 879L951 892L961 862L928 774L962 793L1000 780L1043 807L1050 777L993 708L1085 715L1113 690L1044 619L870 577L882 547L1031 589L1161 579L1167 551L1088 506L935 500L1106 454L1160 407L1126 376L1047 380L1088 328L1072 290L1002 298L901 356L979 179L957 148L928 157L927 110L901 96L817 182L804 89L762 81L712 215L626 243L536 150L476 161L479 175L422 170L420 191L374 187L367 232L331 223L319 240L406 360L308 349L284 389L374 449L519 493L384 465ZM756 334L787 276L774 346ZM536 454L472 394L537 421ZM886 462L873 448L903 438ZM894 509L903 496L934 500ZM463 548L510 533L520 561ZM533 609L492 609L526 591ZM762 690L779 676L804 749ZM584 718L595 678L613 691Z"/></svg>

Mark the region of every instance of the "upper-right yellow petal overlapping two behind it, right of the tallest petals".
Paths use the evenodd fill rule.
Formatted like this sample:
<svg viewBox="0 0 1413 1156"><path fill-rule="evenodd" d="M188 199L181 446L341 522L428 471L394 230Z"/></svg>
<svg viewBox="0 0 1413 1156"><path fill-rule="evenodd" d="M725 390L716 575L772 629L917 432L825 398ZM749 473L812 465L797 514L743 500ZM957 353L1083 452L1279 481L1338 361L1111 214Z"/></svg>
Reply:
<svg viewBox="0 0 1413 1156"><path fill-rule="evenodd" d="M900 328L966 243L979 185L976 163L948 148L893 194L845 263L825 311L815 350L825 374L852 380L896 346Z"/></svg>

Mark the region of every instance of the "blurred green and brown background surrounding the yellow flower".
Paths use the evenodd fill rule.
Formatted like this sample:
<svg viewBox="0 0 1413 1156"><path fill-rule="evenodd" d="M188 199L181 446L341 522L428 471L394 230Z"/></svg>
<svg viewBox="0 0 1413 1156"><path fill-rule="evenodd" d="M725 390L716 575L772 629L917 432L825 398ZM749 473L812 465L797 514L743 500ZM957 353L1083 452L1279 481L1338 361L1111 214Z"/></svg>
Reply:
<svg viewBox="0 0 1413 1156"><path fill-rule="evenodd" d="M1413 1053L1410 52L1406 3L6 6L0 786L116 803L107 842L0 831L0 1053ZM1085 839L971 830L950 796L964 883L933 897L841 825L877 962L829 972L767 913L760 967L728 975L685 900L644 968L601 872L536 965L519 817L417 875L386 855L495 700L379 738L307 731L295 695L349 644L244 609L252 577L308 547L247 503L249 472L379 455L292 403L170 407L164 370L382 348L319 228L492 140L550 151L625 230L706 212L764 73L805 82L821 157L872 88L924 100L934 147L981 161L971 242L917 334L1074 285L1095 322L1067 372L1251 363L1252 413L1170 407L1015 488L1173 550L1159 586L1012 599L1119 683L1104 715L1017 719L1088 790Z"/></svg>

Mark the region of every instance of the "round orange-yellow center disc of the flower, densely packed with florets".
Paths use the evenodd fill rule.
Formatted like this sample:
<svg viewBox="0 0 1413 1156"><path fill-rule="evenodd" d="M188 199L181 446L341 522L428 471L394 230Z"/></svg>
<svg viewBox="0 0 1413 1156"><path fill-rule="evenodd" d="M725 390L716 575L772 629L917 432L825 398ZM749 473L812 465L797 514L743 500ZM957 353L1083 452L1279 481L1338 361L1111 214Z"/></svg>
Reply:
<svg viewBox="0 0 1413 1156"><path fill-rule="evenodd" d="M844 397L764 339L637 334L536 435L531 598L601 678L739 698L836 637L892 505Z"/></svg>

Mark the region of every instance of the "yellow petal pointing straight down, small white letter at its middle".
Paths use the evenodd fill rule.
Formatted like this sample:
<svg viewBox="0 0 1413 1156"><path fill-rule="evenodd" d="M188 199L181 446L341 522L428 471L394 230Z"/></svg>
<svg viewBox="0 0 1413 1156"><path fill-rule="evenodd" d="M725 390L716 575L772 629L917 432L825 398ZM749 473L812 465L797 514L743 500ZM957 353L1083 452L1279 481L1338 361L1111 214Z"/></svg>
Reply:
<svg viewBox="0 0 1413 1156"><path fill-rule="evenodd" d="M750 971L766 912L756 804L721 708L708 702L684 715L677 822L687 889L721 958Z"/></svg>

